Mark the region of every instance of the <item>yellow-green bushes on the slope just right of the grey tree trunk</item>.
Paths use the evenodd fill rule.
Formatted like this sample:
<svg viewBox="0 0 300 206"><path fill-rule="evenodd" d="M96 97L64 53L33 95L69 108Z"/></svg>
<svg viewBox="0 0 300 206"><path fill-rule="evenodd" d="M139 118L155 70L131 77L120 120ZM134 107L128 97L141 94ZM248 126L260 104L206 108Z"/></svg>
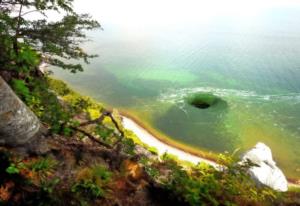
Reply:
<svg viewBox="0 0 300 206"><path fill-rule="evenodd" d="M64 136L73 135L71 128L79 126L79 121L73 119L74 116L87 113L87 118L95 119L91 112L97 111L98 115L103 110L101 104L79 95L60 80L28 77L26 81L13 79L11 85L40 120L48 125L51 132ZM112 143L115 141L112 138L115 136L115 128L112 126L113 124L110 125L111 128L97 125L94 132L107 143Z"/></svg>

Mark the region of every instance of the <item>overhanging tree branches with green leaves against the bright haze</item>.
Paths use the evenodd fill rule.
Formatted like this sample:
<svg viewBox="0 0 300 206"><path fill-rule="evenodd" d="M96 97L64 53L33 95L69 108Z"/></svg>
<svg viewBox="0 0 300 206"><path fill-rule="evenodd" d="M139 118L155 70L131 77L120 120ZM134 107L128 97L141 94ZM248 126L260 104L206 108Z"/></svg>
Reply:
<svg viewBox="0 0 300 206"><path fill-rule="evenodd" d="M88 14L77 14L73 0L0 0L0 70L28 73L41 61L69 70L83 71L79 60L89 63L81 43L85 30L100 28ZM47 19L57 12L60 20ZM32 14L40 18L32 18ZM36 16L36 15L35 15Z"/></svg>

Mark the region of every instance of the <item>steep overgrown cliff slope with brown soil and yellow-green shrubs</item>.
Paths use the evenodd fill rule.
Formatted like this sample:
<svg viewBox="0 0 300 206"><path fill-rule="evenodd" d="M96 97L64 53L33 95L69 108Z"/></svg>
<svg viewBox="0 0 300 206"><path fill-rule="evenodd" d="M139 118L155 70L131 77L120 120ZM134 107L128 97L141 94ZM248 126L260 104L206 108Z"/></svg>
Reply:
<svg viewBox="0 0 300 206"><path fill-rule="evenodd" d="M201 158L200 164L196 159L194 164L182 161L192 159L186 153L176 157L171 150L162 153L143 143L128 130L129 119L123 117L122 124L116 111L105 110L61 81L43 82L47 84L31 93L41 100L39 107L20 98L47 127L49 150L39 155L1 147L3 204L281 205L297 201L295 192L282 197L258 186L248 175L251 165L237 164L238 157L220 155L217 164L225 169Z"/></svg>

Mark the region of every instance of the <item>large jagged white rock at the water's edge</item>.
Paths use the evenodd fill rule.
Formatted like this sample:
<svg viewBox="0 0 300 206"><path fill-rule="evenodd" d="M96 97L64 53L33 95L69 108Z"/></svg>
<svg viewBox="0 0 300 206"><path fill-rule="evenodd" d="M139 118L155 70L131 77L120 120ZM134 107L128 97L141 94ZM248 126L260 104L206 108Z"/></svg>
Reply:
<svg viewBox="0 0 300 206"><path fill-rule="evenodd" d="M243 155L242 162L247 160L258 165L249 169L254 180L277 191L286 192L288 190L286 177L276 166L271 149L267 145L261 142L257 143L254 148Z"/></svg>

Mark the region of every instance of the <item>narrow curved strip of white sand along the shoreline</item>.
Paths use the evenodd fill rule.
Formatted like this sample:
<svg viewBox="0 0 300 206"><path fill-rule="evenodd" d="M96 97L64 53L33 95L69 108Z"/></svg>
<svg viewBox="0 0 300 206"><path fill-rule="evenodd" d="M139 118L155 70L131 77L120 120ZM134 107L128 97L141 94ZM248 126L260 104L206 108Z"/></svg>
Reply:
<svg viewBox="0 0 300 206"><path fill-rule="evenodd" d="M131 120L128 117L122 116L122 122L123 122L124 128L133 131L142 142L144 142L145 144L147 144L151 147L155 147L157 149L159 155L162 155L165 152L167 152L168 154L177 156L178 159L180 159L180 160L189 161L194 164L197 164L199 162L205 162L214 167L217 167L217 164L213 161L198 157L196 155L192 155L188 152L184 152L180 149L172 147L172 146L158 140L156 137L154 137L152 134L150 134L147 130L142 128L140 125L138 125L136 122L134 122L133 120Z"/></svg>

